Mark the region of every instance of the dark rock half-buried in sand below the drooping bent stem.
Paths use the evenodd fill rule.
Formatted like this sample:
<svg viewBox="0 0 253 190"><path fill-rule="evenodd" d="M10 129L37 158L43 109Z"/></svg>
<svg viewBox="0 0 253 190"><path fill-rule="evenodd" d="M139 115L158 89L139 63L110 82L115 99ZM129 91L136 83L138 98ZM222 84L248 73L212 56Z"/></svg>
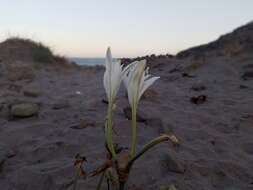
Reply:
<svg viewBox="0 0 253 190"><path fill-rule="evenodd" d="M184 164L177 158L174 152L169 151L161 155L160 162L165 172L176 172L183 174L185 172Z"/></svg>

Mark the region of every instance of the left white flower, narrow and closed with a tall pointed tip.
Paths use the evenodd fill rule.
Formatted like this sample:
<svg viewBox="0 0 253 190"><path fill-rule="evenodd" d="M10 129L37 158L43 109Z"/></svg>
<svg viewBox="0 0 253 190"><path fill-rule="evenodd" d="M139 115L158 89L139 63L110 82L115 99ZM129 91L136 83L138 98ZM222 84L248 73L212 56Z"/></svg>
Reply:
<svg viewBox="0 0 253 190"><path fill-rule="evenodd" d="M108 101L111 103L113 103L116 98L123 78L124 70L122 67L120 61L117 60L113 62L111 50L108 48L105 60L104 88Z"/></svg>

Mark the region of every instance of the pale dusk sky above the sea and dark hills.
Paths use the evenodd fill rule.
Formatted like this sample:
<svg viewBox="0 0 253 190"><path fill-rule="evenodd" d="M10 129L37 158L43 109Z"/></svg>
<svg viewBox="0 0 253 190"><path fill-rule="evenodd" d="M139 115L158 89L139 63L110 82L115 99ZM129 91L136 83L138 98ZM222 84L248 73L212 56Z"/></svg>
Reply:
<svg viewBox="0 0 253 190"><path fill-rule="evenodd" d="M0 41L32 38L69 57L175 54L253 20L252 0L0 0Z"/></svg>

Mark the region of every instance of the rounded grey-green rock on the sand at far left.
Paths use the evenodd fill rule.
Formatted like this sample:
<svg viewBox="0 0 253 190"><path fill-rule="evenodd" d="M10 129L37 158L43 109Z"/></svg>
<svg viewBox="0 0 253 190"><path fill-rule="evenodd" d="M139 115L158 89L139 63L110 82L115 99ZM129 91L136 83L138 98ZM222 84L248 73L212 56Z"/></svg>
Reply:
<svg viewBox="0 0 253 190"><path fill-rule="evenodd" d="M39 106L34 103L20 103L11 107L11 116L13 117L31 117L37 115L39 112Z"/></svg>

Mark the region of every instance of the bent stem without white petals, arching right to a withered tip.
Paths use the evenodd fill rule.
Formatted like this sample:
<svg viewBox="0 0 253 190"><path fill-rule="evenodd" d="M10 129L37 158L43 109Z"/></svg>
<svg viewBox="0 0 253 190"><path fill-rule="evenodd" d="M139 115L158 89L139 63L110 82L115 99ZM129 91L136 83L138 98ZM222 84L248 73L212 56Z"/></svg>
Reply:
<svg viewBox="0 0 253 190"><path fill-rule="evenodd" d="M130 169L133 165L134 161L137 160L139 157L141 157L145 152L147 152L149 149L154 147L155 145L170 140L170 137L168 135L161 135L153 140L151 140L149 143L147 143L140 152L138 152L137 155L135 155L128 163L128 168Z"/></svg>

